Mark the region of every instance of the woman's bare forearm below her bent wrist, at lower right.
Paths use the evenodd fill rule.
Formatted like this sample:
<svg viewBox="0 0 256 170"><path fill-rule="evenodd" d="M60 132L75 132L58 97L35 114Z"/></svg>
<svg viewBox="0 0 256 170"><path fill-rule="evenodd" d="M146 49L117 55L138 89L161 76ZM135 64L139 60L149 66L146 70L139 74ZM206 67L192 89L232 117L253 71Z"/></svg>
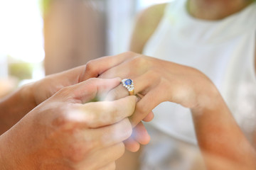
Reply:
<svg viewBox="0 0 256 170"><path fill-rule="evenodd" d="M210 107L192 109L198 145L208 169L255 169L255 149L220 94L213 101Z"/></svg>

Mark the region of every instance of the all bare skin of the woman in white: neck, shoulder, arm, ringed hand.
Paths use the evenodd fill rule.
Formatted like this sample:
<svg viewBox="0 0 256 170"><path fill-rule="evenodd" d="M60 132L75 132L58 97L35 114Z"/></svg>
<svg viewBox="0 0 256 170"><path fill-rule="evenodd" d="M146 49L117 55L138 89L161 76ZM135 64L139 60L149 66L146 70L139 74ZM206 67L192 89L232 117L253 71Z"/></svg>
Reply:
<svg viewBox="0 0 256 170"><path fill-rule="evenodd" d="M240 11L251 2L191 0L188 1L188 11L196 18L218 20ZM153 6L139 15L132 37L132 51L142 52L146 41L159 24L164 6ZM202 6L204 8L198 11ZM215 12L205 15L206 11ZM145 30L144 33L142 30ZM208 77L191 67L137 53L126 52L89 63L90 67L105 63L100 72L95 70L95 75L99 74L101 78L118 76L134 80L135 93L143 97L131 118L133 126L163 101L181 104L191 108L198 145L208 169L256 169L255 149L242 134L225 101ZM122 86L110 93L116 98L127 95Z"/></svg>

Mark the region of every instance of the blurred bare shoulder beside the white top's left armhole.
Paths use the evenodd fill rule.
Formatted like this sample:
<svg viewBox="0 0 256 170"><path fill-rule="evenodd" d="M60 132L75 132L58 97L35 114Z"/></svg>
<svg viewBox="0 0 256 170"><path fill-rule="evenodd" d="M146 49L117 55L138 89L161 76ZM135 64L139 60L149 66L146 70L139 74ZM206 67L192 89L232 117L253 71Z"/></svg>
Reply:
<svg viewBox="0 0 256 170"><path fill-rule="evenodd" d="M137 22L132 34L130 50L142 53L144 45L156 30L167 4L157 4L146 8L137 16Z"/></svg>

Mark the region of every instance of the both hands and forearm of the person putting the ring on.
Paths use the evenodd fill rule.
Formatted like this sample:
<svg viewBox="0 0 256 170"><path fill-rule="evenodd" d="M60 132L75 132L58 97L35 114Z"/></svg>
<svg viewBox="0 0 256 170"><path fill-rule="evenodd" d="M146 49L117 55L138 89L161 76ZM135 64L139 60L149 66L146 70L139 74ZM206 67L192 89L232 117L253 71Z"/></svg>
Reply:
<svg viewBox="0 0 256 170"><path fill-rule="evenodd" d="M53 74L0 101L1 169L114 169L131 135L127 117L137 99L88 103L120 82L90 79L91 71L85 65ZM144 135L134 135L135 141L149 142L144 126L135 129ZM105 134L110 138L100 143Z"/></svg>

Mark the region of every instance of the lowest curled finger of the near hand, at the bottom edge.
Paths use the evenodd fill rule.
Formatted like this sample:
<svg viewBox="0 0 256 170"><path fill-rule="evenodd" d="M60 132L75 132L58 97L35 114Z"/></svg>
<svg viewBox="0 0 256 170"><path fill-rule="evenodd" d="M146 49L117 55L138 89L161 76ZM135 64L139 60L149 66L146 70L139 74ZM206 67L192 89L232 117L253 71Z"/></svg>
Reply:
<svg viewBox="0 0 256 170"><path fill-rule="evenodd" d="M124 154L124 144L122 142L105 147L92 152L90 155L80 162L77 166L78 169L100 169L102 166L112 164Z"/></svg>

